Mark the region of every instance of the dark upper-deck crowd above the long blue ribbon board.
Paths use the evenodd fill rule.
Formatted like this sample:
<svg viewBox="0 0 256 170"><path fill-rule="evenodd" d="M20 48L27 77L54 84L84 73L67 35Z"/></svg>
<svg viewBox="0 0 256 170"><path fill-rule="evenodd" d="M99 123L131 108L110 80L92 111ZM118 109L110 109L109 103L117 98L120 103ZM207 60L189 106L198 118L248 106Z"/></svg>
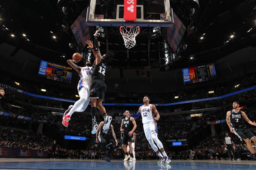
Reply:
<svg viewBox="0 0 256 170"><path fill-rule="evenodd" d="M21 79L19 77L12 76L5 71L1 76L2 84L10 85L12 87L18 88L20 90L45 95L50 97L62 98L62 99L69 99L69 100L77 100L78 98L75 96L77 94L77 89L68 88L59 85L48 85L42 84L39 82L32 82L28 80ZM235 92L238 90L242 90L248 87L251 87L256 84L256 72L248 74L244 78L238 78L236 81L219 84L219 85L212 85L212 86L205 86L205 87L198 87L192 89L185 89L180 90L178 92L165 92L165 93L143 93L143 92L107 92L105 101L106 103L141 103L142 98L144 95L148 95L151 97L152 103L171 103L171 102L179 102L179 101L186 101L186 100L195 100L195 99L203 99L209 97L217 97L222 96L224 94L228 94L231 92ZM20 85L17 85L15 82L19 82ZM235 85L239 85L235 87ZM46 89L46 92L42 92L41 89ZM214 91L214 93L208 93L209 91ZM178 98L174 98L175 96L179 96ZM60 106L56 106L60 107Z"/></svg>

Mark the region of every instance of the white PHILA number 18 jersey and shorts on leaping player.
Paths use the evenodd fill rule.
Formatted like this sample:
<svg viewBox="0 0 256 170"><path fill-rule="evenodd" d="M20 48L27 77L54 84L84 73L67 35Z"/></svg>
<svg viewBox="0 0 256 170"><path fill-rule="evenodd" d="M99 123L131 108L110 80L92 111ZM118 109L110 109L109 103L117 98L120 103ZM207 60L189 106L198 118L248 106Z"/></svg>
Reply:
<svg viewBox="0 0 256 170"><path fill-rule="evenodd" d="M82 87L86 87L90 90L92 85L92 71L93 67L81 67L81 71L79 73L80 80L77 85L78 92Z"/></svg>

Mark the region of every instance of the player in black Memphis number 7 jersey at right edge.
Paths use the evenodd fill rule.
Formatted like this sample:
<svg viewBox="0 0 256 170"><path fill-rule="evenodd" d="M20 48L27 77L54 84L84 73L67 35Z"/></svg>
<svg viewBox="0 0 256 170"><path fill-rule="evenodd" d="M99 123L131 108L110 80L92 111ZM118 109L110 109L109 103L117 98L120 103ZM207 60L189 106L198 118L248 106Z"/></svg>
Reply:
<svg viewBox="0 0 256 170"><path fill-rule="evenodd" d="M252 132L249 129L245 127L244 119L246 120L246 122L253 126L256 126L256 122L250 121L246 114L239 110L238 107L239 102L234 101L233 109L227 112L226 121L228 127L232 133L235 133L235 135L240 138L241 141L244 140L244 142L246 142L248 150L256 157L256 153L251 145L251 141L253 141L254 144L256 143L256 137L255 135L252 134Z"/></svg>

